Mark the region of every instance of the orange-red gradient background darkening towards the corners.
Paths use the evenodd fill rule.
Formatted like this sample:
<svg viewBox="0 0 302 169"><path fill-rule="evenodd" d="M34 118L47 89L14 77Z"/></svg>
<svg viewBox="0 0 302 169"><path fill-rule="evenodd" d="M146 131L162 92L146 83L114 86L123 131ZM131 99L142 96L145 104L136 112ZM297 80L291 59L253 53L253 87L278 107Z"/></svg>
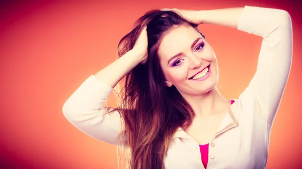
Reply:
<svg viewBox="0 0 302 169"><path fill-rule="evenodd" d="M146 11L259 6L286 10L293 62L272 128L267 168L301 168L301 5L286 1L1 1L1 168L117 168L116 147L70 124L66 99L117 58L119 40ZM238 98L256 71L262 38L232 28L199 26L213 47L219 89ZM109 103L115 106L113 94Z"/></svg>

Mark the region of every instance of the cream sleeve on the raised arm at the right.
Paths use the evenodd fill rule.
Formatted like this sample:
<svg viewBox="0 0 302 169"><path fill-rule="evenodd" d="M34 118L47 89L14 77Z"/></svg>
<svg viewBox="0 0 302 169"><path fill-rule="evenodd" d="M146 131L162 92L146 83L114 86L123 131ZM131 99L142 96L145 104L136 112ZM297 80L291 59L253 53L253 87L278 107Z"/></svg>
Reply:
<svg viewBox="0 0 302 169"><path fill-rule="evenodd" d="M263 38L257 71L239 100L243 107L258 110L255 113L273 123L291 67L290 16L283 10L246 6L238 30Z"/></svg>

